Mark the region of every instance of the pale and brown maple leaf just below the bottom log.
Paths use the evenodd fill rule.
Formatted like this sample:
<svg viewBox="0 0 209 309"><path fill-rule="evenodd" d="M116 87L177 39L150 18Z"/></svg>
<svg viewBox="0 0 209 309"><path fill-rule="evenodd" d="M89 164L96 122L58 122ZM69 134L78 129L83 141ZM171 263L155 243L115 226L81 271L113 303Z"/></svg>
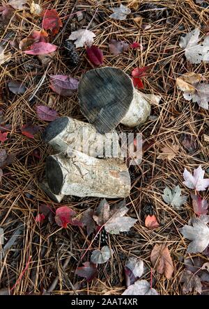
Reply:
<svg viewBox="0 0 209 309"><path fill-rule="evenodd" d="M137 219L124 216L128 211L125 206L125 200L115 204L111 209L105 198L93 214L93 219L98 225L104 225L104 229L110 234L119 234L120 232L128 232L130 228L137 222Z"/></svg>

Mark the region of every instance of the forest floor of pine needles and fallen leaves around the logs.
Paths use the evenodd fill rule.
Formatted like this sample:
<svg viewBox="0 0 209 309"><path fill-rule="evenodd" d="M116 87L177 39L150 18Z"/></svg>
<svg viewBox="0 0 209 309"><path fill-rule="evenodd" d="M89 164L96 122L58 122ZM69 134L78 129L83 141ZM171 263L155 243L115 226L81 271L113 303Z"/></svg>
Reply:
<svg viewBox="0 0 209 309"><path fill-rule="evenodd" d="M208 13L199 0L1 4L0 294L208 294ZM52 153L43 130L59 116L86 121L77 82L100 66L162 97L144 125L117 127L144 147L123 205L134 224L114 235L97 209L123 201L54 203L38 186Z"/></svg>

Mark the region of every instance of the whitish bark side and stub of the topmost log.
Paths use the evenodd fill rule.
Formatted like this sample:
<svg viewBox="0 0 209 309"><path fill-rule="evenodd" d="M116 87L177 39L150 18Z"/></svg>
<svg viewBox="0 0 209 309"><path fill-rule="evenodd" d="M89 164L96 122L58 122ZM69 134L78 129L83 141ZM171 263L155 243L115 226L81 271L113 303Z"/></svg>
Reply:
<svg viewBox="0 0 209 309"><path fill-rule="evenodd" d="M125 117L121 120L127 127L136 127L146 122L150 115L150 104L160 102L160 95L144 94L134 89L134 97Z"/></svg>

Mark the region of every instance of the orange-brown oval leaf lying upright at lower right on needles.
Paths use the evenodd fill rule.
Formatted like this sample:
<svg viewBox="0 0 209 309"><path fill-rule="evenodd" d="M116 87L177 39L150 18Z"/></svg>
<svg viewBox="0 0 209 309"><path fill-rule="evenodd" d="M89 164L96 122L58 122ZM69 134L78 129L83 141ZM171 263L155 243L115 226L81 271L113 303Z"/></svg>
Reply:
<svg viewBox="0 0 209 309"><path fill-rule="evenodd" d="M164 244L155 244L150 255L150 260L160 274L164 274L167 279L171 279L174 269L173 261L167 246L164 246Z"/></svg>

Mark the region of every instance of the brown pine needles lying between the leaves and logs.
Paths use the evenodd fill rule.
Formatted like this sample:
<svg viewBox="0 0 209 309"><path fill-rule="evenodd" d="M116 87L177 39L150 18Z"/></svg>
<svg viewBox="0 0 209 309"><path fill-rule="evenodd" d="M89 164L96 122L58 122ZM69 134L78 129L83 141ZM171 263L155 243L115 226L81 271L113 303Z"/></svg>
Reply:
<svg viewBox="0 0 209 309"><path fill-rule="evenodd" d="M58 10L63 23L74 6L74 1L40 1L45 2L49 8ZM156 17L155 11L148 13L150 19L143 19L138 24L133 17L139 15L139 9L132 15L119 22L109 19L110 8L119 3L127 5L127 1L77 1L75 12L82 12L84 19L77 22L73 19L69 22L65 33L61 33L54 42L60 48L56 52L52 65L43 67L33 56L27 56L19 51L13 52L13 56L7 64L1 66L0 85L2 87L1 109L6 113L6 122L12 125L8 141L1 145L8 152L17 152L17 158L13 165L4 170L1 184L0 226L5 231L6 242L11 238L17 225L22 223L20 237L15 245L10 248L1 261L0 282L1 288L13 287L14 294L40 293L48 290L54 279L57 283L51 287L54 294L118 294L125 289L124 264L128 257L140 257L146 264L146 272L143 278L150 281L150 252L155 244L168 244L171 256L175 262L175 272L171 280L152 269L153 283L160 294L182 294L179 280L185 269L183 258L186 255L187 240L183 239L179 232L194 214L191 199L180 210L176 211L162 200L162 191L165 186L173 187L177 184L189 195L189 190L183 185L183 170L189 171L201 164L203 169L209 168L208 144L203 141L203 133L208 134L208 111L200 109L197 104L187 102L176 88L176 77L185 72L202 73L208 77L208 70L204 63L192 65L185 60L184 52L178 42L180 35L192 31L195 27L206 26L208 10L195 5L192 0L179 1L139 1L143 3L155 3L162 10L162 15ZM150 146L144 152L143 161L139 166L131 166L132 191L127 198L130 208L130 216L139 221L127 235L109 236L108 244L113 249L114 255L107 264L99 268L98 279L86 284L85 280L75 276L76 267L89 260L91 251L100 244L93 242L84 259L80 258L91 244L91 237L86 236L85 229L69 226L67 230L61 230L56 224L45 223L41 227L36 223L35 217L41 203L51 205L56 209L59 204L53 203L45 193L38 189L38 182L45 173L45 159L52 153L52 149L42 143L40 136L30 139L22 136L20 127L26 122L40 125L42 129L47 123L38 119L36 105L47 104L52 90L49 88L49 74L71 74L73 77L81 77L91 65L86 60L84 48L78 52L82 58L77 68L68 66L68 58L63 52L63 41L68 38L71 31L86 27L95 10L96 13L90 30L96 34L95 44L104 52L104 65L121 68L130 74L133 68L153 64L152 76L144 79L144 92L155 93L162 96L158 106L152 106L151 115L154 116L146 124L134 129L132 132L142 132L144 141ZM168 18L167 17L168 15ZM17 13L19 21L13 19L1 30L1 42L5 42L10 49L8 40L17 42L25 38L34 30L40 30L41 23L38 19L29 19L22 12ZM147 31L141 30L141 23L150 24ZM108 42L111 38L141 42L143 52L130 49L118 56L109 53ZM40 86L33 100L29 102L31 95L36 91L42 75L46 78ZM24 95L12 95L6 90L6 82L9 80L24 81L28 90ZM77 95L73 97L59 97L55 95L54 109L60 116L73 116L79 120L84 117L79 111ZM118 126L118 132L131 132L123 126ZM189 152L182 143L183 134L194 136L196 150ZM179 151L171 161L157 159L160 149L167 143L176 143ZM33 150L40 150L40 160L31 155ZM209 198L208 191L205 198ZM100 199L98 198L68 198L62 205L68 205L82 214L88 207L95 209ZM116 200L109 200L116 203ZM144 209L152 205L153 211L160 222L160 228L150 231L144 226ZM193 255L194 256L194 255ZM202 256L199 254L199 256ZM31 258L30 258L31 257ZM31 259L31 260L30 260ZM68 265L63 269L64 261L68 259ZM56 283L55 282L55 283ZM77 283L82 283L78 285ZM192 292L193 294L193 292ZM194 292L195 294L195 292Z"/></svg>

